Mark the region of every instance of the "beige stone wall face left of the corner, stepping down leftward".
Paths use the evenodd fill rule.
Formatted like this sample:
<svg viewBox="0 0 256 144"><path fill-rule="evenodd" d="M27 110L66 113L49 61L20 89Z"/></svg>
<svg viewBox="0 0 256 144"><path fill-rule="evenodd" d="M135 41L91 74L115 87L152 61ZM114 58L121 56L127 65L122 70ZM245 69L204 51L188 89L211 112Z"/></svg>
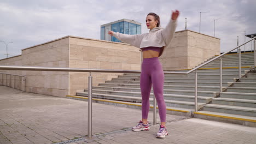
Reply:
<svg viewBox="0 0 256 144"><path fill-rule="evenodd" d="M36 67L68 67L69 37L49 41L22 50L22 55L3 59L1 65L26 65ZM5 71L8 74L26 76L26 92L66 97L68 94L68 72L53 71ZM0 77L1 78L1 77ZM11 76L5 79L14 79ZM8 81L7 80L7 81ZM4 79L3 79L4 81Z"/></svg>

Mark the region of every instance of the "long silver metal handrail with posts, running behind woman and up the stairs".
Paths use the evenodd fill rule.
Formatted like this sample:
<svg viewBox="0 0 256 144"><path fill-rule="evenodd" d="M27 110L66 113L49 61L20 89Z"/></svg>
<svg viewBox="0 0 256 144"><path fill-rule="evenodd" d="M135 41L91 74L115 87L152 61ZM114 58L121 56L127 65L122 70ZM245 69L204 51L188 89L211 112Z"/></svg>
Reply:
<svg viewBox="0 0 256 144"><path fill-rule="evenodd" d="M252 41L256 39L252 38L249 41ZM245 45L249 43L247 41L246 43L242 44ZM240 45L240 46L242 46ZM193 71L195 71L195 111L197 111L197 69L203 67L204 65L220 58L220 92L222 92L222 56L226 55L227 53L234 51L236 49L239 49L240 46L237 46L235 49L232 49L228 52L223 53L222 55L219 55L217 57L214 57L210 59L209 61L197 66L194 69L191 69L187 72L174 72L174 71L164 71L164 74L181 74L181 75L186 75L190 74ZM239 49L240 51L240 49ZM241 52L239 52L239 75L241 78ZM254 40L254 68L256 64L256 56L255 56L255 40ZM33 70L33 71L69 71L69 72L89 72L90 75L88 77L88 138L91 139L92 137L92 76L91 73L141 73L140 70L110 70L110 69L82 69L82 68L47 68L47 67L25 67L25 66L5 66L5 65L0 65L0 70ZM154 97L154 108L153 108L153 124L156 124L156 100Z"/></svg>

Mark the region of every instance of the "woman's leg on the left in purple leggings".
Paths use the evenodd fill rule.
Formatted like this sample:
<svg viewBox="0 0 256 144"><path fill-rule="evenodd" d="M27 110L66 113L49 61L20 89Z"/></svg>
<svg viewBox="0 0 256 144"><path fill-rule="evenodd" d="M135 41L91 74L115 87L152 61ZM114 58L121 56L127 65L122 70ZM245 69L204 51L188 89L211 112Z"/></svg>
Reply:
<svg viewBox="0 0 256 144"><path fill-rule="evenodd" d="M144 65L145 66L145 65ZM147 123L148 119L148 112L150 108L149 97L150 91L152 87L151 77L146 73L147 67L143 67L141 70L141 77L140 77L140 87L141 87L141 97L142 97L142 121L144 124Z"/></svg>

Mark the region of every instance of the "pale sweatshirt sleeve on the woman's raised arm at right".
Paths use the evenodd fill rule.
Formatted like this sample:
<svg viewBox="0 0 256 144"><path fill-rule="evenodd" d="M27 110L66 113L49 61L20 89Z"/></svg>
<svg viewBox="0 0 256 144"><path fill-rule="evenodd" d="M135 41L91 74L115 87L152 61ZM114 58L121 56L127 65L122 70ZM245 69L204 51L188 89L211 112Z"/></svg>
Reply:
<svg viewBox="0 0 256 144"><path fill-rule="evenodd" d="M177 26L177 20L170 20L167 24L167 26L161 30L161 35L164 38L166 46L168 46L173 38L173 35L175 33L175 29Z"/></svg>

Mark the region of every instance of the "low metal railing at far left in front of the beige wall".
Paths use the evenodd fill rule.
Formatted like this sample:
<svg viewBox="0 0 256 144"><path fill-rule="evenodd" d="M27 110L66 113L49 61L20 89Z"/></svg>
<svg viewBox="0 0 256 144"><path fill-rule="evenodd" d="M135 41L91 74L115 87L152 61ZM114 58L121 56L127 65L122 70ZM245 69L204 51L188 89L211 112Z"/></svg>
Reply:
<svg viewBox="0 0 256 144"><path fill-rule="evenodd" d="M9 79L7 79L8 75ZM19 77L19 79L16 79L16 77ZM14 83L12 83L13 81ZM26 76L0 73L0 85L8 86L22 91L22 81L24 81L24 91L26 91Z"/></svg>

